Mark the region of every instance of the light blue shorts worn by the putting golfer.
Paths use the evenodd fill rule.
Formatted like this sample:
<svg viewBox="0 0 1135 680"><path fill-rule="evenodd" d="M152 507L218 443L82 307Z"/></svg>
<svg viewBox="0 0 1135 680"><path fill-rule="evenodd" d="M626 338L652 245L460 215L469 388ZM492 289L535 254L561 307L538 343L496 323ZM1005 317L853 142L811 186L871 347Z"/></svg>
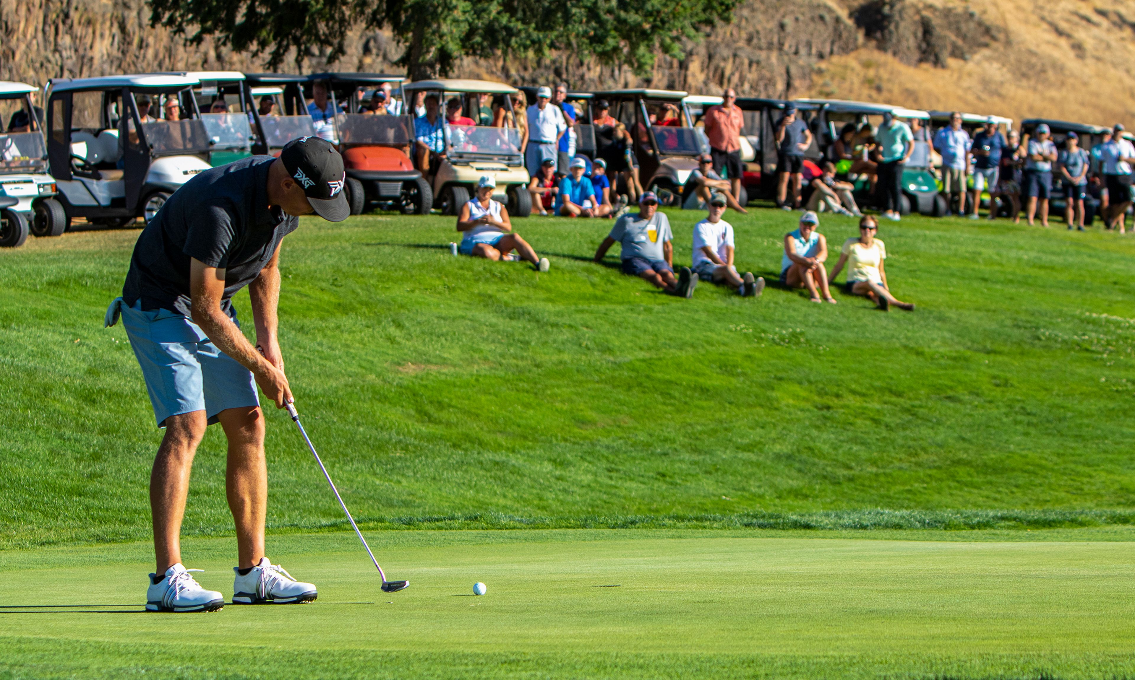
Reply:
<svg viewBox="0 0 1135 680"><path fill-rule="evenodd" d="M193 411L204 411L212 425L226 409L260 405L252 372L218 350L187 317L167 309L142 311L141 300L131 308L118 297L107 310L110 326L116 305L142 367L158 427L165 427L170 415ZM235 309L232 318L236 324Z"/></svg>

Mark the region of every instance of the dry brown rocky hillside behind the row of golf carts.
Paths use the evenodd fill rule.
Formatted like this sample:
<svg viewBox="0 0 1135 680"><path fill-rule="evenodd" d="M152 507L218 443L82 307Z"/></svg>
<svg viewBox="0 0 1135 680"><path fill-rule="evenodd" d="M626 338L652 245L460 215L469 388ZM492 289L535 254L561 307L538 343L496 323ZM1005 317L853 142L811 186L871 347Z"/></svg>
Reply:
<svg viewBox="0 0 1135 680"><path fill-rule="evenodd" d="M186 47L149 27L143 0L0 0L0 77L182 68L262 70L262 58ZM392 68L385 32L347 28L347 56L304 70ZM1135 125L1135 0L747 0L734 20L661 59L648 78L570 57L469 60L460 75L579 89L650 84L835 96ZM294 65L284 69L295 70Z"/></svg>

